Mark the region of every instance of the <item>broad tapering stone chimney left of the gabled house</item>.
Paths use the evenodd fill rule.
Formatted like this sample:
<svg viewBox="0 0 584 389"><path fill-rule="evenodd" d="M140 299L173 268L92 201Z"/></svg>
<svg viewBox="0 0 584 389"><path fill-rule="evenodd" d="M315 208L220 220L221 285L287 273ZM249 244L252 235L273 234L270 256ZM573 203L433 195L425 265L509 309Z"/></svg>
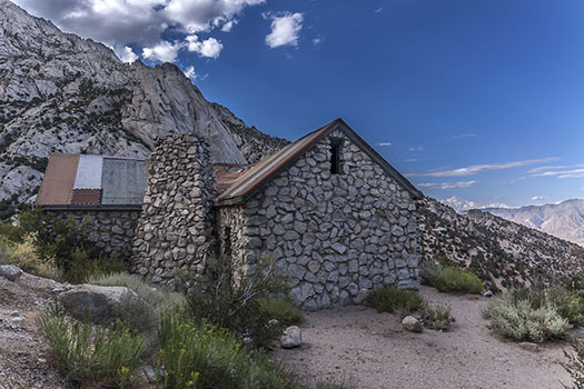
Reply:
<svg viewBox="0 0 584 389"><path fill-rule="evenodd" d="M178 270L204 272L216 247L216 194L207 141L192 134L157 139L133 243L133 272L170 288Z"/></svg>

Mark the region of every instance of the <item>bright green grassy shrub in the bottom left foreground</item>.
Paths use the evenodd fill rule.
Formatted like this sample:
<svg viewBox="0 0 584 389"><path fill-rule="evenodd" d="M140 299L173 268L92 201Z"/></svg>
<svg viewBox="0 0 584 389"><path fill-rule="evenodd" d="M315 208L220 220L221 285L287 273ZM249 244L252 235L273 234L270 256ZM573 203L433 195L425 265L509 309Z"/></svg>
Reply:
<svg viewBox="0 0 584 389"><path fill-rule="evenodd" d="M139 365L142 338L126 329L77 322L58 306L46 309L37 326L57 368L73 382L123 383Z"/></svg>

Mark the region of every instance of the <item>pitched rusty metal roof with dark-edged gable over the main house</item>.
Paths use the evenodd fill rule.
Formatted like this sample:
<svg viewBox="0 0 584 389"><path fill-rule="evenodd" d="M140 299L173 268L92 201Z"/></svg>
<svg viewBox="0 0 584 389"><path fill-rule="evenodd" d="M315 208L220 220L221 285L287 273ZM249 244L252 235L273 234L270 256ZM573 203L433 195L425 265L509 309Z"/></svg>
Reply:
<svg viewBox="0 0 584 389"><path fill-rule="evenodd" d="M339 130L347 136L357 147L367 153L384 171L395 179L414 198L424 197L404 176L392 167L375 149L360 138L343 119L336 119L330 123L301 137L297 141L286 146L281 150L264 158L251 169L241 174L234 183L217 198L219 206L240 203L249 199L263 186L267 184L286 167L291 166L305 152L311 149L319 140L327 137L331 131Z"/></svg>

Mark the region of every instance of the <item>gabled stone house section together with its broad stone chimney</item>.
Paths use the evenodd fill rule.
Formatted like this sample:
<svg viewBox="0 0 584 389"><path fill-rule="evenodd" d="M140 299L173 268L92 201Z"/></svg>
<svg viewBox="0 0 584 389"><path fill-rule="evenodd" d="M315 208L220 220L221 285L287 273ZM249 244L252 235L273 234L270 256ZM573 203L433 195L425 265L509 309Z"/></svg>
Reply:
<svg viewBox="0 0 584 389"><path fill-rule="evenodd" d="M147 164L127 235L133 271L149 282L174 287L178 271L200 273L209 256L229 255L242 273L269 256L306 309L384 283L417 286L423 196L340 119L247 169L214 164L209 144L185 134L158 139Z"/></svg>

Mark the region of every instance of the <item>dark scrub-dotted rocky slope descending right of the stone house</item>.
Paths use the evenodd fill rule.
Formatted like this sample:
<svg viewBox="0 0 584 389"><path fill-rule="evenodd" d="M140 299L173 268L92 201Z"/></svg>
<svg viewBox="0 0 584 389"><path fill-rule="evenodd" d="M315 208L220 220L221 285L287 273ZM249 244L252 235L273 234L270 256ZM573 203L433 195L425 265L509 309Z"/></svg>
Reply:
<svg viewBox="0 0 584 389"><path fill-rule="evenodd" d="M420 210L423 257L468 267L493 290L552 283L584 265L580 246L488 212L462 215L429 198Z"/></svg>

